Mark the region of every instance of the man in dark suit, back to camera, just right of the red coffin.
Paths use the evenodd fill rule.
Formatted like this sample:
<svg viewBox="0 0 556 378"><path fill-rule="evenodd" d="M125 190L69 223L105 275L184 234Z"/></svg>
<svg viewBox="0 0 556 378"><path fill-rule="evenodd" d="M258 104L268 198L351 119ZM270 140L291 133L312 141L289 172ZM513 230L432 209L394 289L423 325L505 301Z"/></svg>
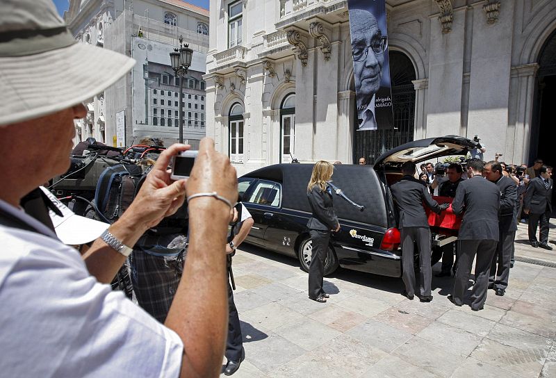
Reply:
<svg viewBox="0 0 556 378"><path fill-rule="evenodd" d="M450 302L456 306L464 303L473 259L475 264L475 285L471 293L471 309L482 310L489 286L489 273L496 245L498 243L498 208L500 208L500 190L496 184L482 177L483 163L471 159L467 163L471 179L462 181L456 190L452 202L455 214L465 210L457 236L459 259L455 284Z"/></svg>

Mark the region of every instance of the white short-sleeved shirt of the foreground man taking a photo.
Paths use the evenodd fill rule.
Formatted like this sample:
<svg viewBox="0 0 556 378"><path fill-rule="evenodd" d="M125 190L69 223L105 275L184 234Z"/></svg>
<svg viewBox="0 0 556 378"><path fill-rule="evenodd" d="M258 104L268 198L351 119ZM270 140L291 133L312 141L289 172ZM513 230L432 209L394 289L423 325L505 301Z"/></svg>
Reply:
<svg viewBox="0 0 556 378"><path fill-rule="evenodd" d="M23 212L18 217L33 223ZM3 377L179 376L179 336L99 284L79 252L3 226L0 240Z"/></svg>

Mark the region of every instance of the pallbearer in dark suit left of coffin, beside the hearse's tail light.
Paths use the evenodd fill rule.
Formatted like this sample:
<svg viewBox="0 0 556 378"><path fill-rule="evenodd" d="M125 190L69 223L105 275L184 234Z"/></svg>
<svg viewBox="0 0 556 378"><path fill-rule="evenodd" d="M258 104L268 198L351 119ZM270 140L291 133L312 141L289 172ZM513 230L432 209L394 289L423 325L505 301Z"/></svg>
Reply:
<svg viewBox="0 0 556 378"><path fill-rule="evenodd" d="M402 165L404 176L400 181L391 186L395 204L398 206L400 215L401 237L402 237L402 266L403 280L405 284L405 295L413 299L415 294L415 272L414 272L414 242L419 247L420 263L420 290L417 295L421 302L432 301L430 293L432 268L430 266L430 229L423 202L432 211L440 213L440 206L429 194L427 186L414 178L415 163L406 162Z"/></svg>

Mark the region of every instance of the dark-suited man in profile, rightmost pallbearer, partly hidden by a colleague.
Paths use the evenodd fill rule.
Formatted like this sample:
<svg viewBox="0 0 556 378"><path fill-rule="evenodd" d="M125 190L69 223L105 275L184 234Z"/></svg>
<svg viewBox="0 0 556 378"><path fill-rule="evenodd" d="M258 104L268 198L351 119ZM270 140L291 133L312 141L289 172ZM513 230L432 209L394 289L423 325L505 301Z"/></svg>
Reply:
<svg viewBox="0 0 556 378"><path fill-rule="evenodd" d="M500 190L499 240L491 264L489 288L496 290L496 295L502 296L508 287L509 264L512 259L512 247L514 246L517 230L516 218L514 217L517 186L514 180L502 174L502 165L498 161L489 161L484 165L484 176L492 183L496 183L498 190Z"/></svg>

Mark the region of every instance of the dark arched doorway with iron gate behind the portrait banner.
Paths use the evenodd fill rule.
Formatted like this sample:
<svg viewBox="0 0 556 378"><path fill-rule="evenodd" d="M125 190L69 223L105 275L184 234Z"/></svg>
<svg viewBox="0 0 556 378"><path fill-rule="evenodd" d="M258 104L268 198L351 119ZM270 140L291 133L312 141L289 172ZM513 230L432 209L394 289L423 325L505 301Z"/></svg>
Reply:
<svg viewBox="0 0 556 378"><path fill-rule="evenodd" d="M390 51L389 60L395 129L354 131L354 162L365 156L368 164L373 164L384 152L413 140L415 89L411 81L416 79L415 69L411 60L400 51ZM357 112L354 114L357 116ZM356 125L357 120L353 124Z"/></svg>

